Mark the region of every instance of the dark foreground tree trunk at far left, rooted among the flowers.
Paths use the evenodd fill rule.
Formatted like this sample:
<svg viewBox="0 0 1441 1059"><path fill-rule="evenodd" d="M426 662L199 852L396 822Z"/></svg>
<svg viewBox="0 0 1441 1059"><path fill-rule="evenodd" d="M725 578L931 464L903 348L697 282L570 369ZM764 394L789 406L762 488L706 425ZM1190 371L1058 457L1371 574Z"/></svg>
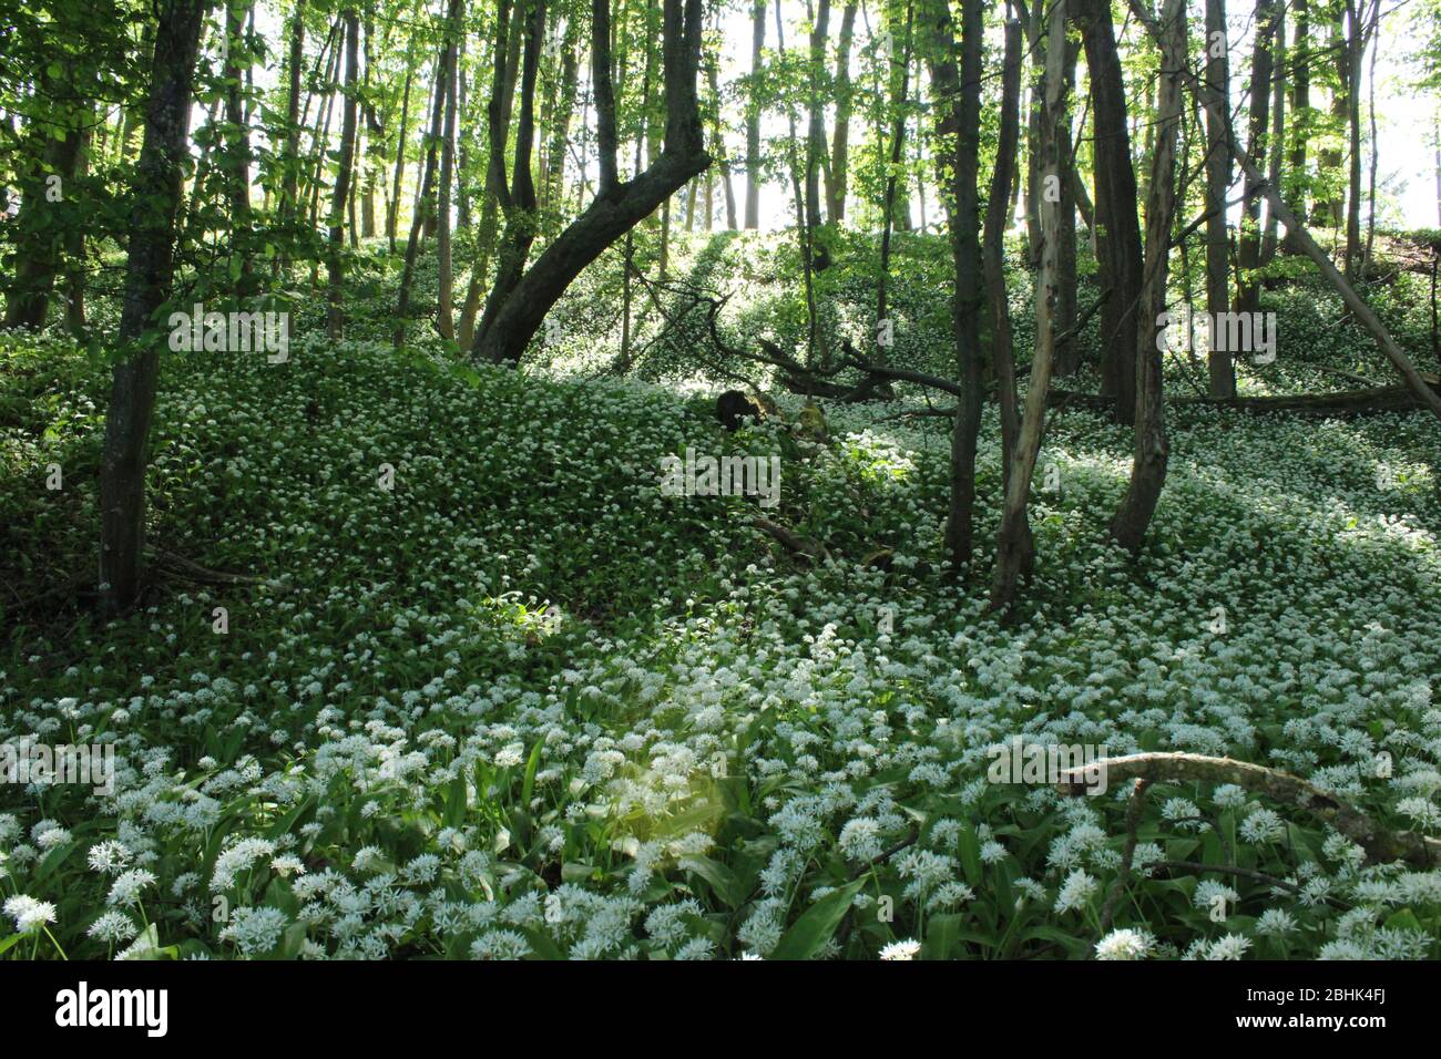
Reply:
<svg viewBox="0 0 1441 1059"><path fill-rule="evenodd" d="M208 0L169 0L160 9L146 102L146 138L131 189L125 294L99 481L99 579L111 611L140 592L146 545L146 442L156 405L160 352L153 329L174 280L176 215L187 161L195 61Z"/></svg>

